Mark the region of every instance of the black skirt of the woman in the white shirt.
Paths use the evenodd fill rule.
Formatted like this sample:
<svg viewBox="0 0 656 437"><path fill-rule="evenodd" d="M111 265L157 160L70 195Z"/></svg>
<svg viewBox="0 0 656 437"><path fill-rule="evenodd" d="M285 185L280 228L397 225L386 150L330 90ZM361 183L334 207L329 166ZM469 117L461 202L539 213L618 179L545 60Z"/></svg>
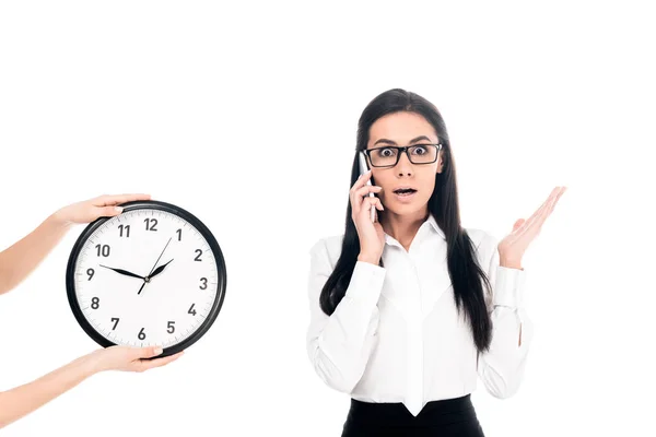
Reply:
<svg viewBox="0 0 656 437"><path fill-rule="evenodd" d="M351 399L342 437L433 436L484 437L471 394L429 402L417 417L402 403Z"/></svg>

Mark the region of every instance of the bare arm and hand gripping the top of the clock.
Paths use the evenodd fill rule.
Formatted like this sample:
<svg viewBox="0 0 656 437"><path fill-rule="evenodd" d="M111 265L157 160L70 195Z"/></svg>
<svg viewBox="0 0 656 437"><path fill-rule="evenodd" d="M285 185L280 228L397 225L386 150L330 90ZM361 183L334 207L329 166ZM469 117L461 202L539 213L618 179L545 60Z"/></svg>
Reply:
<svg viewBox="0 0 656 437"><path fill-rule="evenodd" d="M121 212L120 208L116 208L117 204L148 199L148 194L101 196L55 212L28 235L0 252L0 294L10 292L23 282L72 225L117 215Z"/></svg>

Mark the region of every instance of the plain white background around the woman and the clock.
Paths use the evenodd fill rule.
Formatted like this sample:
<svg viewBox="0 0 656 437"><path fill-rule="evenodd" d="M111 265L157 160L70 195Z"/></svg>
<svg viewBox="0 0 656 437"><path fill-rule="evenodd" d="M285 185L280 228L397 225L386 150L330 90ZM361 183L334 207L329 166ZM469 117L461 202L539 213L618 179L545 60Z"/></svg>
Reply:
<svg viewBox="0 0 656 437"><path fill-rule="evenodd" d="M3 435L338 436L348 395L305 354L307 251L342 232L358 117L397 86L445 117L466 226L503 237L569 187L524 260L525 382L473 394L487 435L654 429L647 2L234 3L0 3L0 246L144 191L198 215L229 272L178 362L96 375ZM82 228L0 297L1 390L96 347L66 299Z"/></svg>

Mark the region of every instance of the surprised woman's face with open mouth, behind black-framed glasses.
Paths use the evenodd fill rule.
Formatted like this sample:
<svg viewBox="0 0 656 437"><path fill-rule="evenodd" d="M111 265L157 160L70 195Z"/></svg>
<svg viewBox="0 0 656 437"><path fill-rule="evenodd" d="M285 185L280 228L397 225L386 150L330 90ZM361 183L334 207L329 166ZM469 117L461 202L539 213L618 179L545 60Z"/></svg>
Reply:
<svg viewBox="0 0 656 437"><path fill-rule="evenodd" d="M435 129L422 116L414 113L395 113L379 118L372 125L367 149L437 142ZM417 149L413 160L420 160L420 155L425 151L426 149ZM390 156L395 153L394 150L382 149L372 152L372 155ZM423 158L425 160L425 156ZM394 167L372 167L374 184L383 188L377 196L385 209L399 215L425 211L435 188L435 174L442 173L442 166L440 151L437 160L432 164L413 164L403 152ZM409 193L398 192L399 189L407 188L411 189Z"/></svg>

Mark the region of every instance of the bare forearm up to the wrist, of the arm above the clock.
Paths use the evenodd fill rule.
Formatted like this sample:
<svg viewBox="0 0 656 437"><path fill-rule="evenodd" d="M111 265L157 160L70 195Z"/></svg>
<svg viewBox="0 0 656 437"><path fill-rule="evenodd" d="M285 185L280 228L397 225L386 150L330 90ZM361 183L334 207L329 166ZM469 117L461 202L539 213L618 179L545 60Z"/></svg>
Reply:
<svg viewBox="0 0 656 437"><path fill-rule="evenodd" d="M28 235L0 252L0 294L16 287L57 246L69 225L50 215Z"/></svg>

